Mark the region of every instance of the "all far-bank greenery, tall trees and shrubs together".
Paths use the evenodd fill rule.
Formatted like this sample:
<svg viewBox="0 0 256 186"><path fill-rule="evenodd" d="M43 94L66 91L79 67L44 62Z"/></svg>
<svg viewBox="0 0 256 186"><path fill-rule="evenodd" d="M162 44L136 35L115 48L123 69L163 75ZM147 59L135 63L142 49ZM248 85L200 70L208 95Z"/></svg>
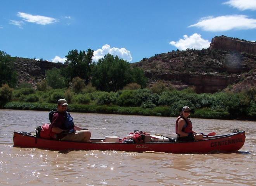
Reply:
<svg viewBox="0 0 256 186"><path fill-rule="evenodd" d="M159 81L149 88L142 69L131 68L130 63L110 54L94 63L92 54L90 49L70 51L67 68L46 71L46 78L35 89L27 83L15 86L17 79L5 78L3 72L12 69L16 73L12 59L2 52L0 107L49 111L65 98L70 112L177 117L182 107L189 106L191 116L197 118L256 118L255 87L240 93L197 94L192 88L179 91Z"/></svg>

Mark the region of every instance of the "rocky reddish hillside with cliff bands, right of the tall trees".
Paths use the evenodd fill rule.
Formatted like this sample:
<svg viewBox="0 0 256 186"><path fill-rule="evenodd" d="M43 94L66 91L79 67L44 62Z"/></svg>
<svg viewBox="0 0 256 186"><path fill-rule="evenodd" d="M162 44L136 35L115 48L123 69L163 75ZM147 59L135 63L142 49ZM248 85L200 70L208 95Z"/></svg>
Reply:
<svg viewBox="0 0 256 186"><path fill-rule="evenodd" d="M150 85L161 80L197 93L214 93L229 85L234 91L256 86L255 44L229 37L214 37L208 49L155 54L132 65L144 69Z"/></svg>

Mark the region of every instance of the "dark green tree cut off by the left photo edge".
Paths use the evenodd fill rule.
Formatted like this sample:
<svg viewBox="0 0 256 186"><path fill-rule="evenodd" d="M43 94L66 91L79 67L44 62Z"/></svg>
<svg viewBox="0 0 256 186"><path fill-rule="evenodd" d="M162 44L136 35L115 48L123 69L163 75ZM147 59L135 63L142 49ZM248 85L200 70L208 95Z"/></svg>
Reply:
<svg viewBox="0 0 256 186"><path fill-rule="evenodd" d="M14 69L14 58L0 51L0 86L7 83L10 87L17 85L17 72Z"/></svg>

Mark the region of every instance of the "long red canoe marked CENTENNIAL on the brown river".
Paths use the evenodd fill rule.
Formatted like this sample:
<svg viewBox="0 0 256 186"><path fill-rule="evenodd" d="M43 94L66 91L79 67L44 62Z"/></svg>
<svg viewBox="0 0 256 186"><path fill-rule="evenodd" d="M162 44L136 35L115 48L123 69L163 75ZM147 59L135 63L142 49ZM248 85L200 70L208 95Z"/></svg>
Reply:
<svg viewBox="0 0 256 186"><path fill-rule="evenodd" d="M192 142L149 142L149 143L107 143L103 139L91 139L92 142L71 142L36 138L26 132L14 132L14 147L39 148L49 150L121 150L130 152L167 152L175 154L207 154L217 152L235 152L244 145L245 131L204 137Z"/></svg>

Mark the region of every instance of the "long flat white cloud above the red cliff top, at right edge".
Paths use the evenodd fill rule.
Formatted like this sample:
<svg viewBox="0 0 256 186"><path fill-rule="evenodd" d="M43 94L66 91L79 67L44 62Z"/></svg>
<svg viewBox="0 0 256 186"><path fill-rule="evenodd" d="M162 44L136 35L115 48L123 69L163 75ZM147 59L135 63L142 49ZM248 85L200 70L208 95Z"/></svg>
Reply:
<svg viewBox="0 0 256 186"><path fill-rule="evenodd" d="M219 17L204 17L198 23L189 27L199 27L206 31L248 30L256 29L256 19L247 15L223 15Z"/></svg>

